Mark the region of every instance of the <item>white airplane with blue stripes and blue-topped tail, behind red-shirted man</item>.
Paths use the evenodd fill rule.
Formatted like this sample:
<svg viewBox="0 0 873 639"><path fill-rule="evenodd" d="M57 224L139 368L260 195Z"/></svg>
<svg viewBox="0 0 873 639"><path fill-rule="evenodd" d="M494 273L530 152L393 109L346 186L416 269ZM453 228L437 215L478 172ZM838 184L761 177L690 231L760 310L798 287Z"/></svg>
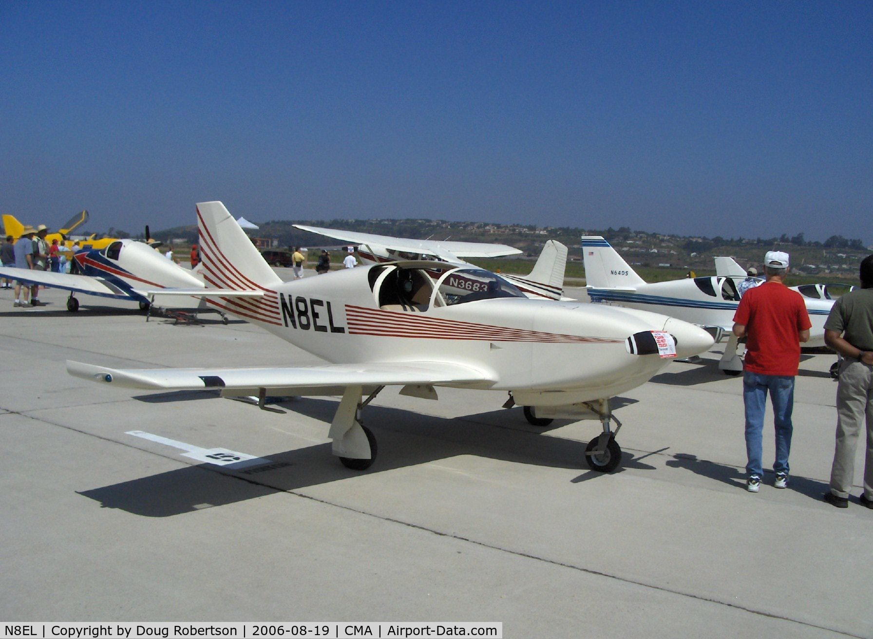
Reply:
<svg viewBox="0 0 873 639"><path fill-rule="evenodd" d="M601 236L582 237L582 259L588 297L592 302L608 302L625 308L664 313L686 322L703 326L716 341L729 336L725 354L718 368L726 374L739 374L743 362L737 355L737 338L732 334L733 315L739 306L736 279L746 277L741 266L735 268L716 258L725 272L739 269L739 275L672 279L668 282L647 284L630 265ZM733 260L731 259L733 262ZM806 347L824 346L824 322L833 306L833 300L804 297L812 328Z"/></svg>

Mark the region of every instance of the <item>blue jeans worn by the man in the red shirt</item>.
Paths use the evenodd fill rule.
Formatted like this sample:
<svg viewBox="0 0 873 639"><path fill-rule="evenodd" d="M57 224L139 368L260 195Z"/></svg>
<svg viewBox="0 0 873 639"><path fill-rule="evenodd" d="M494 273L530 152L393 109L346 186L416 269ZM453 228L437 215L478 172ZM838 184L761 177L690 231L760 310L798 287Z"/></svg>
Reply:
<svg viewBox="0 0 873 639"><path fill-rule="evenodd" d="M776 429L776 460L773 471L788 474L788 453L791 450L791 411L794 408L794 377L743 373L743 403L746 405L746 474L764 477L761 468L761 432L764 429L764 408L767 391L773 402L773 426Z"/></svg>

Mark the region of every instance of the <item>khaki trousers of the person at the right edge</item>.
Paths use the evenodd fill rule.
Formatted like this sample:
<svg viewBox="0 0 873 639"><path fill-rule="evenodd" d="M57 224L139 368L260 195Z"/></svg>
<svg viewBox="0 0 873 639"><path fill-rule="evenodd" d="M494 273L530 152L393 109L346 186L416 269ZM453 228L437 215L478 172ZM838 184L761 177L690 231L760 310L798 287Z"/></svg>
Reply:
<svg viewBox="0 0 873 639"><path fill-rule="evenodd" d="M837 497L849 497L855 478L858 433L865 418L864 495L873 499L873 367L857 360L845 360L836 389L836 447L830 470L830 491Z"/></svg>

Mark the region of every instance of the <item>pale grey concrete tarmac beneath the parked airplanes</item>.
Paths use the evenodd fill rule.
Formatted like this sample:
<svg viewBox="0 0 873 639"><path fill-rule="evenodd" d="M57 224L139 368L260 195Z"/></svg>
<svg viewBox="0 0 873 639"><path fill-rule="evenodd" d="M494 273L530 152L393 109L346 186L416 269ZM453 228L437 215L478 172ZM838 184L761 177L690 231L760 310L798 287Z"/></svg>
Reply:
<svg viewBox="0 0 873 639"><path fill-rule="evenodd" d="M579 294L576 291L575 294ZM574 295L574 292L569 292ZM745 490L742 381L721 347L614 401L624 451L588 471L599 423L526 423L506 395L386 388L379 456L330 452L339 398L283 413L212 392L73 378L127 368L319 361L243 322L148 323L65 292L0 291L0 620L482 621L506 637L873 636L873 511L821 499L835 428L829 354L804 355L787 490ZM583 364L581 364L583 365ZM765 460L773 458L770 414ZM130 431L148 435L134 436ZM150 438L149 438L150 437ZM162 443L159 437L175 442ZM862 438L863 441L863 438ZM269 464L184 457L226 449ZM861 480L859 448L856 484Z"/></svg>

